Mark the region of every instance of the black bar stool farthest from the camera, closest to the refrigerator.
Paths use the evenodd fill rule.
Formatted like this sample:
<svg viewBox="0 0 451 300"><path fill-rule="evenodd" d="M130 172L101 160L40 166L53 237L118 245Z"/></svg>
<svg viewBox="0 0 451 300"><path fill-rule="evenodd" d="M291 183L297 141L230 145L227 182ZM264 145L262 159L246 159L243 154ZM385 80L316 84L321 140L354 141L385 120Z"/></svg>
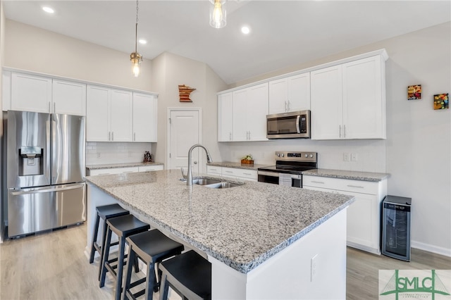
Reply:
<svg viewBox="0 0 451 300"><path fill-rule="evenodd" d="M94 255L96 254L96 251L99 252L100 255L100 261L103 256L103 245L105 244L106 239L106 220L109 218L115 218L119 217L121 215L128 215L130 212L126 209L122 208L119 204L110 204L105 206L97 206L97 217L96 217L96 223L94 224L94 230L92 231L92 244L91 244L91 255L89 256L89 263L94 262ZM97 244L97 232L99 232L99 221L100 218L104 220L104 229L101 233L101 245ZM115 242L111 244L111 246L117 245L118 242ZM99 279L100 279L100 270L99 268Z"/></svg>

